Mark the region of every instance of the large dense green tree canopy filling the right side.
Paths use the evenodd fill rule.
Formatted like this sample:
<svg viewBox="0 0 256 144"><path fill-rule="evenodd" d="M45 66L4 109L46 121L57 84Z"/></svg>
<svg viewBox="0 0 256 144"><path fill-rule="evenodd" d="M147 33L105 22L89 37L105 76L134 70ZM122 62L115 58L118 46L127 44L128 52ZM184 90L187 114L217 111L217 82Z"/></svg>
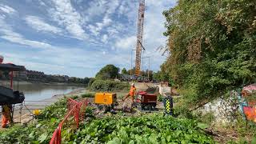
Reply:
<svg viewBox="0 0 256 144"><path fill-rule="evenodd" d="M198 102L255 82L256 1L179 0L163 12L170 56L162 65Z"/></svg>

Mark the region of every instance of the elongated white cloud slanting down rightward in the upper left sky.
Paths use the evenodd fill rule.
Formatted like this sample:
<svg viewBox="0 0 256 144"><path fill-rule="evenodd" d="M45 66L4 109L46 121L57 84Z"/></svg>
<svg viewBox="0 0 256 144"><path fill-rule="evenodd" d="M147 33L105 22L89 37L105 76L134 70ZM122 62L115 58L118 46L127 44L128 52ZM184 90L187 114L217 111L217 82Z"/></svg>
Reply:
<svg viewBox="0 0 256 144"><path fill-rule="evenodd" d="M50 24L44 22L42 18L38 18L32 15L26 16L26 23L31 26L34 30L51 32L54 34L61 33L62 30L58 27L51 26Z"/></svg>

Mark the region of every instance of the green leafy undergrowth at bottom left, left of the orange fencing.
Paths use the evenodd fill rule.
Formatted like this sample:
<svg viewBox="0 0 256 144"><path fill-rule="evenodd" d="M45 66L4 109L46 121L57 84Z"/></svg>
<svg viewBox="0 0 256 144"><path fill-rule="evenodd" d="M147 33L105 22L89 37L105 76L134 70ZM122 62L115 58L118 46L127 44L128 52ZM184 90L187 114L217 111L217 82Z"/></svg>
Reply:
<svg viewBox="0 0 256 144"><path fill-rule="evenodd" d="M15 125L0 131L0 143L49 143L66 111L66 98L63 98L42 110L37 122L24 126Z"/></svg>

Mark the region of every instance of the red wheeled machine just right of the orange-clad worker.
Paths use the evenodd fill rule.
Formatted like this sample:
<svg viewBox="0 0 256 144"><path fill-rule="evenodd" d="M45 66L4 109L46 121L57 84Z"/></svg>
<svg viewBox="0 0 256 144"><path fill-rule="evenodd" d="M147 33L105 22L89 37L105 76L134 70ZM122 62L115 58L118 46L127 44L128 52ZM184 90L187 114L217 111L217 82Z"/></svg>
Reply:
<svg viewBox="0 0 256 144"><path fill-rule="evenodd" d="M140 107L141 110L156 110L157 95L148 94L145 91L140 91L135 99L135 106Z"/></svg>

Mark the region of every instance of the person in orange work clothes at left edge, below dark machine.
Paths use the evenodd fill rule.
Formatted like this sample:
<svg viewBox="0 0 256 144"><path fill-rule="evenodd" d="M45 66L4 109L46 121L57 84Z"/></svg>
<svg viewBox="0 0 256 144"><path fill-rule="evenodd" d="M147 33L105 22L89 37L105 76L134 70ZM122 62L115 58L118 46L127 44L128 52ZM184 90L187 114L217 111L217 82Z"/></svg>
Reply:
<svg viewBox="0 0 256 144"><path fill-rule="evenodd" d="M10 106L2 106L2 128L6 128L7 125L11 122L11 116L10 116Z"/></svg>

